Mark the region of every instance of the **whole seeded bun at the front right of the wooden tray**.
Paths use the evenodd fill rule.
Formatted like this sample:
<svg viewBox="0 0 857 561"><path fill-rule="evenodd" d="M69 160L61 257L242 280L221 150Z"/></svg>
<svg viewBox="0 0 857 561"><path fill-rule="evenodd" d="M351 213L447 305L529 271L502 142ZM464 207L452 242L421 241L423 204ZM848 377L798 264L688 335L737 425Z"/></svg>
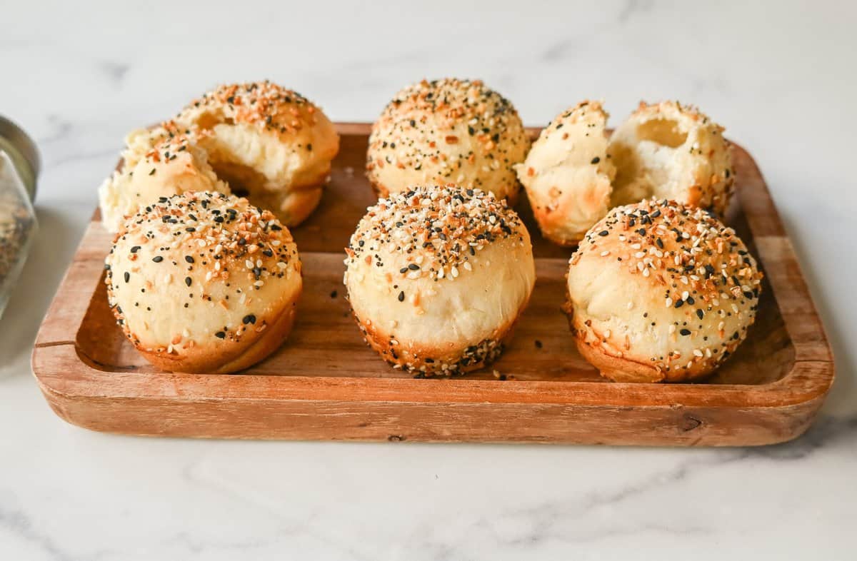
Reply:
<svg viewBox="0 0 857 561"><path fill-rule="evenodd" d="M692 380L744 340L761 279L734 230L701 209L644 200L586 234L569 264L565 311L605 377Z"/></svg>

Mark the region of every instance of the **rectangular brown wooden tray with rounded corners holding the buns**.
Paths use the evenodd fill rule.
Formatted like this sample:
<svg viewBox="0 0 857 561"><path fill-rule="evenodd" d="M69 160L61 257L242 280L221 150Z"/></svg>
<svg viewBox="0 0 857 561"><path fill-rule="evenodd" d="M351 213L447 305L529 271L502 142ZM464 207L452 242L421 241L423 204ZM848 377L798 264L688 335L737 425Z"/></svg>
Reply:
<svg viewBox="0 0 857 561"><path fill-rule="evenodd" d="M560 311L572 252L538 236L522 197L538 280L512 343L480 372L414 379L363 343L343 297L343 248L375 196L363 176L369 125L338 126L331 185L292 230L304 293L283 347L240 374L154 369L107 305L111 236L96 212L33 349L33 373L57 415L96 431L156 436L609 445L765 445L794 439L812 422L833 380L830 346L764 180L739 146L727 222L758 256L765 287L756 325L713 377L601 379Z"/></svg>

